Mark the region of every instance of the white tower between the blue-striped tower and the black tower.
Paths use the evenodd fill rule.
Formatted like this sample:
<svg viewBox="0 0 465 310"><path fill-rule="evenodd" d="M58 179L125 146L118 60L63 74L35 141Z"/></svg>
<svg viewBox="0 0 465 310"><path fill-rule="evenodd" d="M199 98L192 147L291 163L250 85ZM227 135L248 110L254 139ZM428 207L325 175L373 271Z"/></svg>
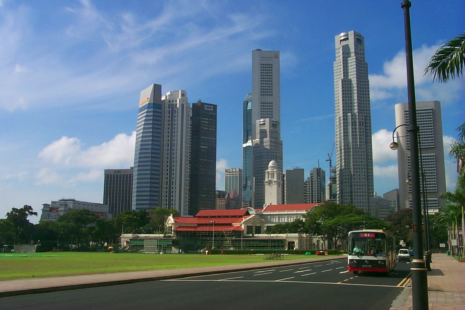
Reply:
<svg viewBox="0 0 465 310"><path fill-rule="evenodd" d="M167 92L163 103L161 206L188 215L191 109L183 90Z"/></svg>

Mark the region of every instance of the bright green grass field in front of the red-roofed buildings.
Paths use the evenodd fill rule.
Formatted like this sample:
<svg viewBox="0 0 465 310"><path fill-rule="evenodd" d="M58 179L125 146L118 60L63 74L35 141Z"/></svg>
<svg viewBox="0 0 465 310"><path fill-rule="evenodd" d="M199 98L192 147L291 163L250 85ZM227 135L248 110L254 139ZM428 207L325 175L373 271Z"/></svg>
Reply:
<svg viewBox="0 0 465 310"><path fill-rule="evenodd" d="M2 253L3 254L3 253ZM18 256L17 256L18 255ZM315 257L286 255L285 260ZM263 255L47 252L0 255L0 281L264 262Z"/></svg>

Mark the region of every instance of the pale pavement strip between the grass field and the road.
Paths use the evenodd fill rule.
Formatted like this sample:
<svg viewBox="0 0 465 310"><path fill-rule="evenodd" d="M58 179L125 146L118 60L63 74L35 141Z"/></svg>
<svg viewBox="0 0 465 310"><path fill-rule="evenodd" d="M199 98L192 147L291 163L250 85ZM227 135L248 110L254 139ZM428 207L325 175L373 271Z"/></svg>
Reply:
<svg viewBox="0 0 465 310"><path fill-rule="evenodd" d="M286 261L264 261L263 263L252 264L196 267L172 270L147 270L134 272L106 273L87 276L0 281L0 297L55 292L60 290L77 290L91 287L130 284L182 277L204 276L209 274L227 273L233 271L253 270L257 268L308 264L313 262L323 262L341 258L347 258L347 256L323 256Z"/></svg>

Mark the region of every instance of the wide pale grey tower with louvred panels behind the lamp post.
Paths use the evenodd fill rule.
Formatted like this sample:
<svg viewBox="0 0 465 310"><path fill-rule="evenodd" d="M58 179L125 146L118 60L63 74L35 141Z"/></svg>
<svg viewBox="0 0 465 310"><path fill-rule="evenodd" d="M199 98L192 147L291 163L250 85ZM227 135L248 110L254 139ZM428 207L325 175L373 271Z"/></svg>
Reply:
<svg viewBox="0 0 465 310"><path fill-rule="evenodd" d="M429 212L438 212L445 205L439 194L445 192L444 146L442 141L441 103L439 101L417 102L417 124L419 126L420 189L423 204L423 193ZM409 124L408 104L398 103L395 106L396 126ZM399 208L412 207L412 184L406 182L412 178L410 174L410 137L407 126L400 126L397 133L397 161L399 168ZM423 186L425 185L425 186ZM425 192L423 192L425 187Z"/></svg>

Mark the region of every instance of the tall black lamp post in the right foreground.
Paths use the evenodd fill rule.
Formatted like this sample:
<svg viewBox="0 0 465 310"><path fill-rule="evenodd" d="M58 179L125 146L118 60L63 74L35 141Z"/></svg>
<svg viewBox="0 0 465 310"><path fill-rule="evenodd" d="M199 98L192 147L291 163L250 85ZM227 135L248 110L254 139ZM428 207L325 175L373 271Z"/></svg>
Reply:
<svg viewBox="0 0 465 310"><path fill-rule="evenodd" d="M413 232L413 260L412 260L412 304L413 310L428 309L428 277L426 275L425 260L422 248L422 227L420 209L420 174L418 157L418 126L417 109L415 104L415 83L413 78L412 33L410 28L409 0L403 0L405 27L405 63L407 67L408 115L410 135L410 162L412 167L412 232Z"/></svg>

